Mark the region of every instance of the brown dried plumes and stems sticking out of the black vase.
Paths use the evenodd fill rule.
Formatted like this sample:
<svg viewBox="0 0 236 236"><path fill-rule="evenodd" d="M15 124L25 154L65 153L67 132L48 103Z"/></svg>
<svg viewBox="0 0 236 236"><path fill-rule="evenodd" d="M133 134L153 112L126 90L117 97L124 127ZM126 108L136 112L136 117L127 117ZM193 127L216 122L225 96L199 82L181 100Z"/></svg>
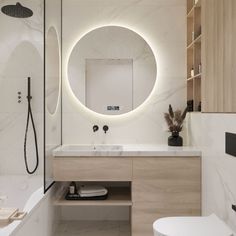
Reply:
<svg viewBox="0 0 236 236"><path fill-rule="evenodd" d="M172 134L178 134L179 132L182 131L183 122L187 112L188 108L186 108L183 113L181 110L173 111L172 106L169 105L168 113L164 113L164 117L168 125L169 132L171 132Z"/></svg>

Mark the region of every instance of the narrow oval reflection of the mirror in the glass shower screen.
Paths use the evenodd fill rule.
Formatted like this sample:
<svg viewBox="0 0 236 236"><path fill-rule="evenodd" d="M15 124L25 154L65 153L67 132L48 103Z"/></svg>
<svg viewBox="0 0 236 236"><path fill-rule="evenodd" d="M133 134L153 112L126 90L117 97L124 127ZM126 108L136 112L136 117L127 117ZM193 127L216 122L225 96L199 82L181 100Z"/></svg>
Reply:
<svg viewBox="0 0 236 236"><path fill-rule="evenodd" d="M46 106L50 114L56 111L60 87L60 55L57 32L50 27L46 38Z"/></svg>

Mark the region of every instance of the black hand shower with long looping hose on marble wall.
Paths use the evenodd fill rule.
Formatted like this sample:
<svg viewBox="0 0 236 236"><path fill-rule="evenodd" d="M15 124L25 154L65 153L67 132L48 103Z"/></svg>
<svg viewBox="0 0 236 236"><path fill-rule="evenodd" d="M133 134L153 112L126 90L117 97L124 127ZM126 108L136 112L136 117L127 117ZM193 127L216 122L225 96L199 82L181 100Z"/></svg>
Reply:
<svg viewBox="0 0 236 236"><path fill-rule="evenodd" d="M28 112L27 113L28 114L27 114L25 139L24 139L24 160L25 160L26 171L30 175L35 173L35 171L37 170L38 165L39 165L38 141L37 141L35 124L34 124L34 118L33 118L32 109L31 109L31 102L30 102L31 99L32 99L32 97L30 95L30 78L28 78L28 96L27 96L27 101L28 101ZM27 137L28 137L28 130L29 130L30 121L31 121L32 127L33 127L34 144L35 144L35 152L36 152L36 164L35 164L35 167L33 170L29 169L28 160L27 160Z"/></svg>

